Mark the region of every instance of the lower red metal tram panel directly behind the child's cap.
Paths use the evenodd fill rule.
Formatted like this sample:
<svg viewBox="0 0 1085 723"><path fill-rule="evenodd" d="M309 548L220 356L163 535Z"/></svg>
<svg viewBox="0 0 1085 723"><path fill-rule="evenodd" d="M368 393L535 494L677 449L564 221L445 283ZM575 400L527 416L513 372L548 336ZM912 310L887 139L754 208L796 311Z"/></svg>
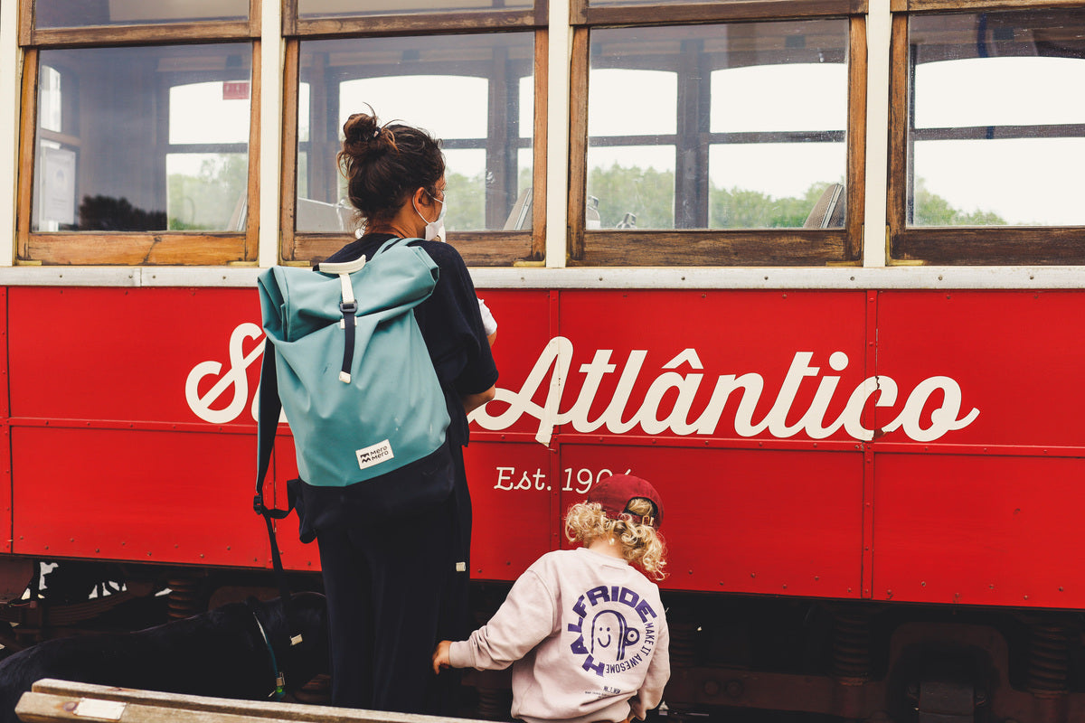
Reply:
<svg viewBox="0 0 1085 723"><path fill-rule="evenodd" d="M572 446L562 465L571 488L562 486L562 509L603 469L655 486L666 512L664 588L859 596L858 452Z"/></svg>

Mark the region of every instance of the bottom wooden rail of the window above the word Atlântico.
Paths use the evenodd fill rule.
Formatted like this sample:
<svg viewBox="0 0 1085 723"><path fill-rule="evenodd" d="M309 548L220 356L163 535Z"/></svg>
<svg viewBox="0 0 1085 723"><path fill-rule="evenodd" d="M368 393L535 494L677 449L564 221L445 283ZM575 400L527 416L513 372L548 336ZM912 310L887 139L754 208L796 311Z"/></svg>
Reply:
<svg viewBox="0 0 1085 723"><path fill-rule="evenodd" d="M842 229L589 231L570 266L822 266L847 261Z"/></svg>

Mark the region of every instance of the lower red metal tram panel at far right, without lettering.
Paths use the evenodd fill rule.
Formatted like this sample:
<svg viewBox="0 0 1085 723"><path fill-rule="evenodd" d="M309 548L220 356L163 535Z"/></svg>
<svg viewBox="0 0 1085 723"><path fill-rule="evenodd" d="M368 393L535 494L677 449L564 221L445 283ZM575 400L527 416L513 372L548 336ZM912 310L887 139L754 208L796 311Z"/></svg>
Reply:
<svg viewBox="0 0 1085 723"><path fill-rule="evenodd" d="M877 454L875 599L1085 607L1085 460Z"/></svg>

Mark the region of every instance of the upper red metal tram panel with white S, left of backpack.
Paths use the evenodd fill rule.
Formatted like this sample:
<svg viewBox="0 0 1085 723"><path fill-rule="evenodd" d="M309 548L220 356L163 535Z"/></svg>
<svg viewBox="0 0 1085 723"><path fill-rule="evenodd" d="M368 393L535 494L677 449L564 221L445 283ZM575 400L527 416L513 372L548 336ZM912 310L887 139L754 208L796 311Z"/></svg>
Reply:
<svg viewBox="0 0 1085 723"><path fill-rule="evenodd" d="M15 287L9 306L16 418L253 424L255 291Z"/></svg>

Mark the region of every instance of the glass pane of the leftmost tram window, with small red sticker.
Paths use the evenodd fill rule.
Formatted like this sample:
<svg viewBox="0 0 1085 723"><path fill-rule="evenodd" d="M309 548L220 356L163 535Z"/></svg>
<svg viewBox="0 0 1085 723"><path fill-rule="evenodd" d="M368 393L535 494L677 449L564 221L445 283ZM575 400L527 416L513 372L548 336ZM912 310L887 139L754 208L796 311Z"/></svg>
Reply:
<svg viewBox="0 0 1085 723"><path fill-rule="evenodd" d="M242 228L250 44L39 57L56 77L39 86L34 231Z"/></svg>

